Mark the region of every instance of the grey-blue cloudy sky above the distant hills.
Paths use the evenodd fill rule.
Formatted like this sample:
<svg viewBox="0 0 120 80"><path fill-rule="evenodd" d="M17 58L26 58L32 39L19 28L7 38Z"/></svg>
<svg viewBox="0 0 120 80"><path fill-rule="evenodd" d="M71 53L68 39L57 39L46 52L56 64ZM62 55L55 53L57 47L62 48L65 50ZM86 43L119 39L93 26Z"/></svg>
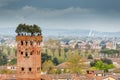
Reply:
<svg viewBox="0 0 120 80"><path fill-rule="evenodd" d="M42 29L120 31L120 0L0 0L0 29L20 23Z"/></svg>

